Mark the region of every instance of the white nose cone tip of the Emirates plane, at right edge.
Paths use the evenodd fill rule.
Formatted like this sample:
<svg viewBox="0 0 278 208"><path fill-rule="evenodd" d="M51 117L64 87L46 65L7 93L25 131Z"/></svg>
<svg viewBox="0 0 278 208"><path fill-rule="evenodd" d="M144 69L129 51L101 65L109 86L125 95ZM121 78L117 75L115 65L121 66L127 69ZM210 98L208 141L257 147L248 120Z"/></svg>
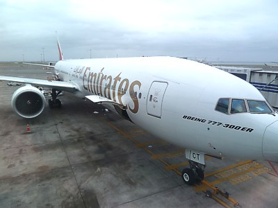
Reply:
<svg viewBox="0 0 278 208"><path fill-rule="evenodd" d="M263 156L272 162L278 162L278 121L265 128L263 135Z"/></svg>

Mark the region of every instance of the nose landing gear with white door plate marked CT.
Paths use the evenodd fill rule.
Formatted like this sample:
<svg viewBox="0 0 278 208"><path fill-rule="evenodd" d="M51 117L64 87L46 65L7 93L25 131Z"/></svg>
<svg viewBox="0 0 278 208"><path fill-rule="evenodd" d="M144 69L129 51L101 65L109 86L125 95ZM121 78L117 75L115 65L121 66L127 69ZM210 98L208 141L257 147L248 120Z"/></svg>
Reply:
<svg viewBox="0 0 278 208"><path fill-rule="evenodd" d="M186 158L189 161L190 168L184 168L181 171L183 181L188 185L204 180L204 153L194 150L186 150Z"/></svg>

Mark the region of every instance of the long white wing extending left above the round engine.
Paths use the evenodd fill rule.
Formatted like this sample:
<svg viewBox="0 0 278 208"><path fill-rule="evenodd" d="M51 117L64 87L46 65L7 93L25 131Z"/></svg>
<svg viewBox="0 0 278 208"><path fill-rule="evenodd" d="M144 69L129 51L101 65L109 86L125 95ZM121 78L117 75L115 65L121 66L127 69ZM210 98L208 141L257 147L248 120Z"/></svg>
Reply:
<svg viewBox="0 0 278 208"><path fill-rule="evenodd" d="M24 78L24 77L13 77L13 76L0 76L0 80L10 81L15 83L25 83L40 87L49 87L51 89L56 89L57 91L66 92L76 92L79 91L79 87L74 83L56 81L56 80L40 80L34 78Z"/></svg>

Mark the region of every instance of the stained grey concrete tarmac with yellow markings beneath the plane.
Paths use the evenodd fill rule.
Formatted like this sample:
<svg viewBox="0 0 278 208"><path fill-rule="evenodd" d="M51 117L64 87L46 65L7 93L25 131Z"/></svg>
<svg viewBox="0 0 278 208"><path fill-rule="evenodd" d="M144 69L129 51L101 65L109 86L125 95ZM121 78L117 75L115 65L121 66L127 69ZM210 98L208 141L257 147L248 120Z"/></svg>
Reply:
<svg viewBox="0 0 278 208"><path fill-rule="evenodd" d="M46 72L0 63L2 76ZM206 157L204 182L188 186L184 149L67 92L61 109L22 119L18 87L0 81L0 207L278 207L278 164Z"/></svg>

